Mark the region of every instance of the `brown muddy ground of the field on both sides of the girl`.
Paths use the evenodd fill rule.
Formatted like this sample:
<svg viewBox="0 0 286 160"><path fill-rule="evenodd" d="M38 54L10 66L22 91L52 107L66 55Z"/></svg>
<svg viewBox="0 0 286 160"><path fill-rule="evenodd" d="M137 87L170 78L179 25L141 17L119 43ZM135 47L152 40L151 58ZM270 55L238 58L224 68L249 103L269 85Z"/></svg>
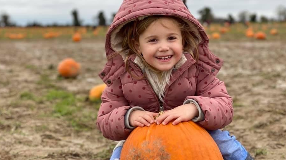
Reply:
<svg viewBox="0 0 286 160"><path fill-rule="evenodd" d="M256 159L286 159L286 45L279 41L210 43L224 59L218 74L234 99L225 129ZM66 57L76 79L57 75ZM104 41L0 42L0 159L107 160L115 142L96 129L99 103L86 98L106 62Z"/></svg>

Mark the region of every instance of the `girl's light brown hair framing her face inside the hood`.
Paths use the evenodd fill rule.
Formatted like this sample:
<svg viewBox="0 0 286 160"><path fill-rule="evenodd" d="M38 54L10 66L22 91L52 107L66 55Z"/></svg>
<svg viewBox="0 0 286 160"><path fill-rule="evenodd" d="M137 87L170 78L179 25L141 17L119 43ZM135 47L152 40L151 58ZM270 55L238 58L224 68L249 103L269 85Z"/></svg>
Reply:
<svg viewBox="0 0 286 160"><path fill-rule="evenodd" d="M198 60L198 30L191 24L183 21L181 18L174 16L164 16L164 15L153 15L143 20L135 20L127 23L120 32L123 34L122 50L120 53L126 53L125 67L127 72L134 78L141 79L142 77L137 77L132 74L129 68L128 58L132 54L136 54L143 62L144 66L148 67L151 71L155 73L160 73L158 69L149 65L143 56L139 54L135 48L135 42L139 42L139 36L156 20L160 18L168 17L178 23L178 27L181 30L182 40L183 40L183 51L188 52L192 55L195 60ZM163 24L164 25L164 24ZM195 49L195 52L193 50Z"/></svg>

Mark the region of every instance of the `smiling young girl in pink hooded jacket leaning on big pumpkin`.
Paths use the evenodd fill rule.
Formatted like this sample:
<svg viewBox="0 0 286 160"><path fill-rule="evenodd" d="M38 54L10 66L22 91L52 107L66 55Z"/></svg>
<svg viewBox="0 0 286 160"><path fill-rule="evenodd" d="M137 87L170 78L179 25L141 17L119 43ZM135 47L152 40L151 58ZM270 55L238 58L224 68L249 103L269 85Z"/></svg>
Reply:
<svg viewBox="0 0 286 160"><path fill-rule="evenodd" d="M107 84L97 126L111 140L132 129L193 120L207 129L224 159L253 159L221 131L232 121L232 99L216 78L222 59L208 49L201 24L181 0L124 0L106 37L107 64L99 74ZM165 113L158 119L156 110ZM124 141L111 160L119 159Z"/></svg>

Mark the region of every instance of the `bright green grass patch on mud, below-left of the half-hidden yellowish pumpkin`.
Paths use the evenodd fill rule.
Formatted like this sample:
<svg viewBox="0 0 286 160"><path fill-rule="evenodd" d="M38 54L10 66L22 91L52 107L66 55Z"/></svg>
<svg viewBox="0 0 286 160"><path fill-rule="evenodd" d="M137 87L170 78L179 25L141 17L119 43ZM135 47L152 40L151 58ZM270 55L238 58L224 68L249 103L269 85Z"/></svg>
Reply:
<svg viewBox="0 0 286 160"><path fill-rule="evenodd" d="M88 108L86 106L91 103L86 101L84 96L76 97L61 89L50 89L45 99L52 103L51 116L66 119L76 131L94 129L100 103L92 103L95 108Z"/></svg>

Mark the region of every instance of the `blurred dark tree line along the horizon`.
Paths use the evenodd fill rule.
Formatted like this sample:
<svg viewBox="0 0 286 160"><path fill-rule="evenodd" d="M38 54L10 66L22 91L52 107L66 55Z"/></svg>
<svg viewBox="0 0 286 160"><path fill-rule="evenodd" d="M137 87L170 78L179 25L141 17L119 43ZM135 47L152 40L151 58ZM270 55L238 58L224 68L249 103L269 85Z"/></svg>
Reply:
<svg viewBox="0 0 286 160"><path fill-rule="evenodd" d="M183 0L183 2L186 4L186 0ZM229 22L230 24L234 23L234 22L273 22L273 21L278 21L278 22L285 22L286 21L286 7L285 6L278 6L276 8L276 15L277 15L277 19L274 18L268 18L265 15L262 15L259 19L259 17L257 16L256 13L251 13L249 11L241 11L238 14L238 20L235 20L235 18L233 17L232 14L228 14L227 18L219 18L219 17L215 17L214 13L212 13L212 9L210 7L204 7L201 10L198 11L198 13L200 14L200 21L202 23L222 23L222 22ZM116 13L112 13L112 20L114 18ZM79 19L79 12L74 9L71 11L71 16L73 19L72 24L66 24L66 25L59 25L57 23L53 23L53 24L48 24L45 26L48 27L58 27L58 26L83 26L83 20ZM93 26L105 26L108 25L109 22L111 22L112 20L108 21L105 18L105 14L103 11L100 11L98 13L98 15L93 17ZM15 22L12 22L10 19L10 16L7 13L3 13L1 15L1 19L0 19L0 27L13 27L13 26L17 26ZM44 25L40 24L39 22L29 22L26 27L42 27ZM86 25L86 26L90 26L90 25Z"/></svg>

